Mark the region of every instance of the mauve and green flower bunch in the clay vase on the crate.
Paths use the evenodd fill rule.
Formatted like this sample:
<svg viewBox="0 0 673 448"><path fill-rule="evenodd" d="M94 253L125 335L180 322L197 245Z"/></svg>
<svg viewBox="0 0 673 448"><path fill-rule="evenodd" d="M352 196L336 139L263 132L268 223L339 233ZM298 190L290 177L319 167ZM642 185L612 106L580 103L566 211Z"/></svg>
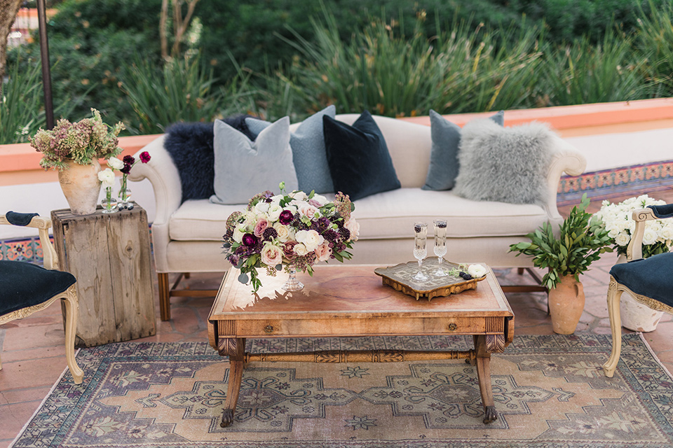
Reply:
<svg viewBox="0 0 673 448"><path fill-rule="evenodd" d="M30 139L30 146L42 153L40 166L44 169L67 169L67 161L89 165L94 159L109 159L121 152L117 136L123 123L114 126L103 123L100 112L91 109L93 118L77 123L58 120L53 130L40 129Z"/></svg>

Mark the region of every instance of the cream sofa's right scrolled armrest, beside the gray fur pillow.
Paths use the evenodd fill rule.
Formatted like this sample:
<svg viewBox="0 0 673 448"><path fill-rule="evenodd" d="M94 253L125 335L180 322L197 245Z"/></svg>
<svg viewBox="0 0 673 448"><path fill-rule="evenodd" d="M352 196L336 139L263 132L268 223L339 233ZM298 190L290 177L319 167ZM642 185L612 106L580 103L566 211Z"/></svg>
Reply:
<svg viewBox="0 0 673 448"><path fill-rule="evenodd" d="M559 182L563 173L570 176L579 176L587 167L587 160L580 151L561 137L554 137L552 160L547 172L547 203L543 207L550 219L561 219L556 204Z"/></svg>

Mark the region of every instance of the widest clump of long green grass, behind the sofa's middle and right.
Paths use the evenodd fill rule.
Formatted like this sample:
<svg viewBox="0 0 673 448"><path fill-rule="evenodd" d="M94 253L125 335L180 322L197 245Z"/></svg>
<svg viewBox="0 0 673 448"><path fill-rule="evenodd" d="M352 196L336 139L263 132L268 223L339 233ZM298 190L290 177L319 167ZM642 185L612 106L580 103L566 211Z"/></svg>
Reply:
<svg viewBox="0 0 673 448"><path fill-rule="evenodd" d="M512 109L526 104L526 86L537 78L541 53L531 29L512 39L511 30L487 31L456 25L428 41L423 16L405 35L404 24L373 20L344 42L334 16L314 22L314 39L288 41L306 58L294 63L288 80L301 89L311 111L335 104L340 112L385 116ZM508 41L515 44L510 45ZM301 93L300 93L301 92Z"/></svg>

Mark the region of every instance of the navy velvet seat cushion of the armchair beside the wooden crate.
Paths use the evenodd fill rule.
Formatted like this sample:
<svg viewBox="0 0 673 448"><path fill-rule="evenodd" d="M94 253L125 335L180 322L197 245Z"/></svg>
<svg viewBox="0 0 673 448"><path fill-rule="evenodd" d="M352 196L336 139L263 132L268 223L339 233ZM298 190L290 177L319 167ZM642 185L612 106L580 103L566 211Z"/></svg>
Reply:
<svg viewBox="0 0 673 448"><path fill-rule="evenodd" d="M46 302L75 283L69 272L23 261L0 260L0 316Z"/></svg>

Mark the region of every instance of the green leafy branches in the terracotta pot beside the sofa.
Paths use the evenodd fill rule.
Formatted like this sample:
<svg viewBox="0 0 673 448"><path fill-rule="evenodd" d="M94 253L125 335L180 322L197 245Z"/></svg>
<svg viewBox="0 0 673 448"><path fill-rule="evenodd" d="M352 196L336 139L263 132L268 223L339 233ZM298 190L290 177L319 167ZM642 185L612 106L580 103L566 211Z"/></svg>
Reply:
<svg viewBox="0 0 673 448"><path fill-rule="evenodd" d="M559 226L560 235L554 235L550 223L526 235L531 242L512 244L510 252L519 252L517 256L530 255L533 266L548 269L542 279L543 286L555 288L562 277L575 276L589 269L592 262L600 258L601 253L612 252L611 238L608 232L587 213L589 199L582 195L579 207L573 207L569 216Z"/></svg>

